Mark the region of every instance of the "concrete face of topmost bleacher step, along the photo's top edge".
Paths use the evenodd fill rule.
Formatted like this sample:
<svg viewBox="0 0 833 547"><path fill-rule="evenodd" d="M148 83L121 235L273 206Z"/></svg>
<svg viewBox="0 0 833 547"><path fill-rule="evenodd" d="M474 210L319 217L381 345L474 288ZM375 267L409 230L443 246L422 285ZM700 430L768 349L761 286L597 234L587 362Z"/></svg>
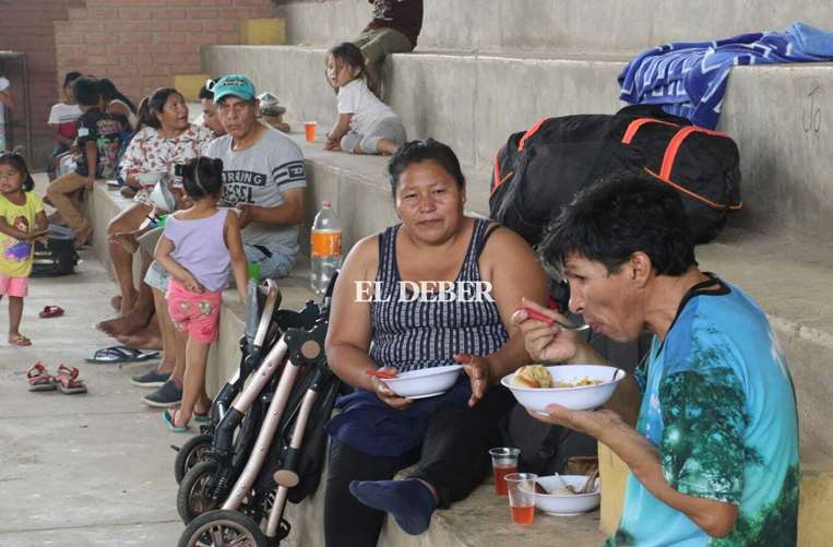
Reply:
<svg viewBox="0 0 833 547"><path fill-rule="evenodd" d="M366 0L284 2L289 44L331 46L354 38L370 20ZM604 16L600 16L604 14ZM712 40L741 33L783 31L794 21L833 27L825 2L754 5L745 0L695 8L685 0L425 0L419 48L492 51L635 52L681 40Z"/></svg>

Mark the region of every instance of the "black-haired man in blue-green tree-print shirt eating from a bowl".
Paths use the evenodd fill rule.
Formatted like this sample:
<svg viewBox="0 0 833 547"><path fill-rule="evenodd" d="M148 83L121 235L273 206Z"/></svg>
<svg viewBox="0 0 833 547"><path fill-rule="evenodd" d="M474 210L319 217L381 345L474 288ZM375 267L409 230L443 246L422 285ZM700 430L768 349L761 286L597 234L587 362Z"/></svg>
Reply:
<svg viewBox="0 0 833 547"><path fill-rule="evenodd" d="M635 429L610 409L551 405L548 417L533 414L596 437L629 466L619 530L607 544L796 545L789 371L758 305L697 267L677 193L641 175L599 182L561 214L542 253L562 266L570 309L595 332L616 341L654 334L647 367L635 373L643 392ZM523 311L513 321L535 359L604 362L579 335Z"/></svg>

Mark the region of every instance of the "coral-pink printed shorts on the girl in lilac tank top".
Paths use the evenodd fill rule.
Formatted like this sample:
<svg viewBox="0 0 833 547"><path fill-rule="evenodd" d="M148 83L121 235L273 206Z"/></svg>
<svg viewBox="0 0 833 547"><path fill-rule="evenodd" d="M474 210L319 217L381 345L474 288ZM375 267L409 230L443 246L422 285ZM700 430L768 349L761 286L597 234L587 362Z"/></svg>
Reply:
<svg viewBox="0 0 833 547"><path fill-rule="evenodd" d="M202 344L211 344L219 333L219 290L191 293L171 277L168 285L168 313L180 332Z"/></svg>

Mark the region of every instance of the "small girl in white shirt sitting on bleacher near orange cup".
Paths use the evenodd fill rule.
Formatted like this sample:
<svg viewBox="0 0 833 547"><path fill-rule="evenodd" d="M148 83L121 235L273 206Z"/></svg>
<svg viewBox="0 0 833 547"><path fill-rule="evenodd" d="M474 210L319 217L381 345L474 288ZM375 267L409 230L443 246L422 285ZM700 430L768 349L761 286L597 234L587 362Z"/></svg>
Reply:
<svg viewBox="0 0 833 547"><path fill-rule="evenodd" d="M326 79L338 90L338 120L324 150L391 155L406 141L402 119L371 93L366 78L365 57L354 44L328 51Z"/></svg>

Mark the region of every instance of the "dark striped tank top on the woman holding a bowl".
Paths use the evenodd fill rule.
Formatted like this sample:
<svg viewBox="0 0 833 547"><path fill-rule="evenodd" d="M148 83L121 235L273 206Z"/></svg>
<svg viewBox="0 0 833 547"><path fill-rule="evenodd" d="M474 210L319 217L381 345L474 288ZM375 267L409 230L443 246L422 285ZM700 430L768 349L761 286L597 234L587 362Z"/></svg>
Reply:
<svg viewBox="0 0 833 547"><path fill-rule="evenodd" d="M509 333L497 304L490 298L462 301L464 296L440 301L442 299L414 298L407 285L403 288L396 263L400 226L391 226L379 237L378 288L370 305L373 330L370 358L380 367L394 367L404 372L454 365L454 354L459 353L489 355L500 349ZM488 227L489 221L475 219L465 261L454 280L455 287L472 288L483 281L477 259L486 245Z"/></svg>

